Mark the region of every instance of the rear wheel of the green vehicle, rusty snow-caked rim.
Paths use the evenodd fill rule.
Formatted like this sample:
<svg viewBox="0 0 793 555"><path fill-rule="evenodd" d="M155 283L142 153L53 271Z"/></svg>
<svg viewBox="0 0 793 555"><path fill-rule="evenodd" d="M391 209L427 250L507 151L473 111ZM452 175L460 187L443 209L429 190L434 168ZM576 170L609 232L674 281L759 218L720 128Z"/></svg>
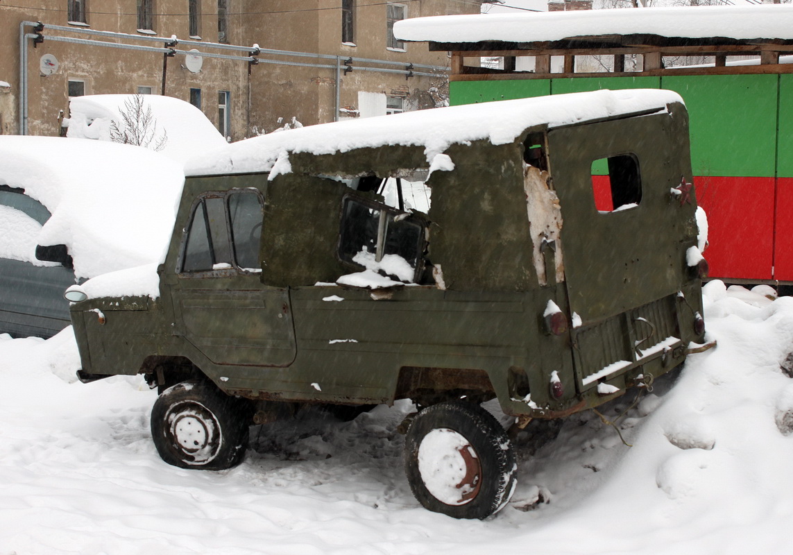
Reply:
<svg viewBox="0 0 793 555"><path fill-rule="evenodd" d="M444 456L431 456L437 453ZM509 438L476 404L450 401L419 412L405 438L404 467L419 503L455 519L486 519L515 490L517 465Z"/></svg>

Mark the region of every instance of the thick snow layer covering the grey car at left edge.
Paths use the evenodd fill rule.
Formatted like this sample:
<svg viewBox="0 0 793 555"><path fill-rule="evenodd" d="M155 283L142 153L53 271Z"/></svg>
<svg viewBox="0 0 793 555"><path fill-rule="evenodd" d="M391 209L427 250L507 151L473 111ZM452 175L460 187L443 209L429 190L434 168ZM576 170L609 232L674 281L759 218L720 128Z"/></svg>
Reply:
<svg viewBox="0 0 793 555"><path fill-rule="evenodd" d="M52 212L36 243L65 244L75 276L94 277L164 257L184 174L141 147L0 136L0 179Z"/></svg>

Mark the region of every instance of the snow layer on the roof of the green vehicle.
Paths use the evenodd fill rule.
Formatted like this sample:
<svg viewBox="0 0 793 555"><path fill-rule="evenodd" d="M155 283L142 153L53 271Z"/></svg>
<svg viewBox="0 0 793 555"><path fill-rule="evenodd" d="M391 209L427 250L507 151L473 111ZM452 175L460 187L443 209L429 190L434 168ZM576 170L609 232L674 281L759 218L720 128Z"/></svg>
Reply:
<svg viewBox="0 0 793 555"><path fill-rule="evenodd" d="M598 90L435 108L389 116L309 125L226 145L214 155L186 164L187 175L238 174L273 170L288 173L289 153L314 155L385 145L423 147L427 164L450 145L473 140L508 144L527 128L615 117L664 109L683 102L669 90Z"/></svg>

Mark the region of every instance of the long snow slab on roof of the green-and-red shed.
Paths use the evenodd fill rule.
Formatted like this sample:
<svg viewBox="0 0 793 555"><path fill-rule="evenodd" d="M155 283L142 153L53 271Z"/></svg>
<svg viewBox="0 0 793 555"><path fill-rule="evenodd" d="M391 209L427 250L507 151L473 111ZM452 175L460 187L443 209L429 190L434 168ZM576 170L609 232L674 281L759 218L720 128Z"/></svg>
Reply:
<svg viewBox="0 0 793 555"><path fill-rule="evenodd" d="M685 6L416 17L397 21L400 40L542 42L575 36L657 35L736 40L793 39L793 5Z"/></svg>

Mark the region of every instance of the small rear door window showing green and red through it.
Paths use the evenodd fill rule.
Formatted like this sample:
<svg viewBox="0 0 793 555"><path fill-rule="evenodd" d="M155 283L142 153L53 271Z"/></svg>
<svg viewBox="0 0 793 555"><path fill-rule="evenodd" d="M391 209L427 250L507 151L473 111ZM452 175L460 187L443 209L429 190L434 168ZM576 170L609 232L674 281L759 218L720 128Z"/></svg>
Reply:
<svg viewBox="0 0 793 555"><path fill-rule="evenodd" d="M636 155L622 154L592 162L592 195L598 212L635 208L642 201L642 177Z"/></svg>

